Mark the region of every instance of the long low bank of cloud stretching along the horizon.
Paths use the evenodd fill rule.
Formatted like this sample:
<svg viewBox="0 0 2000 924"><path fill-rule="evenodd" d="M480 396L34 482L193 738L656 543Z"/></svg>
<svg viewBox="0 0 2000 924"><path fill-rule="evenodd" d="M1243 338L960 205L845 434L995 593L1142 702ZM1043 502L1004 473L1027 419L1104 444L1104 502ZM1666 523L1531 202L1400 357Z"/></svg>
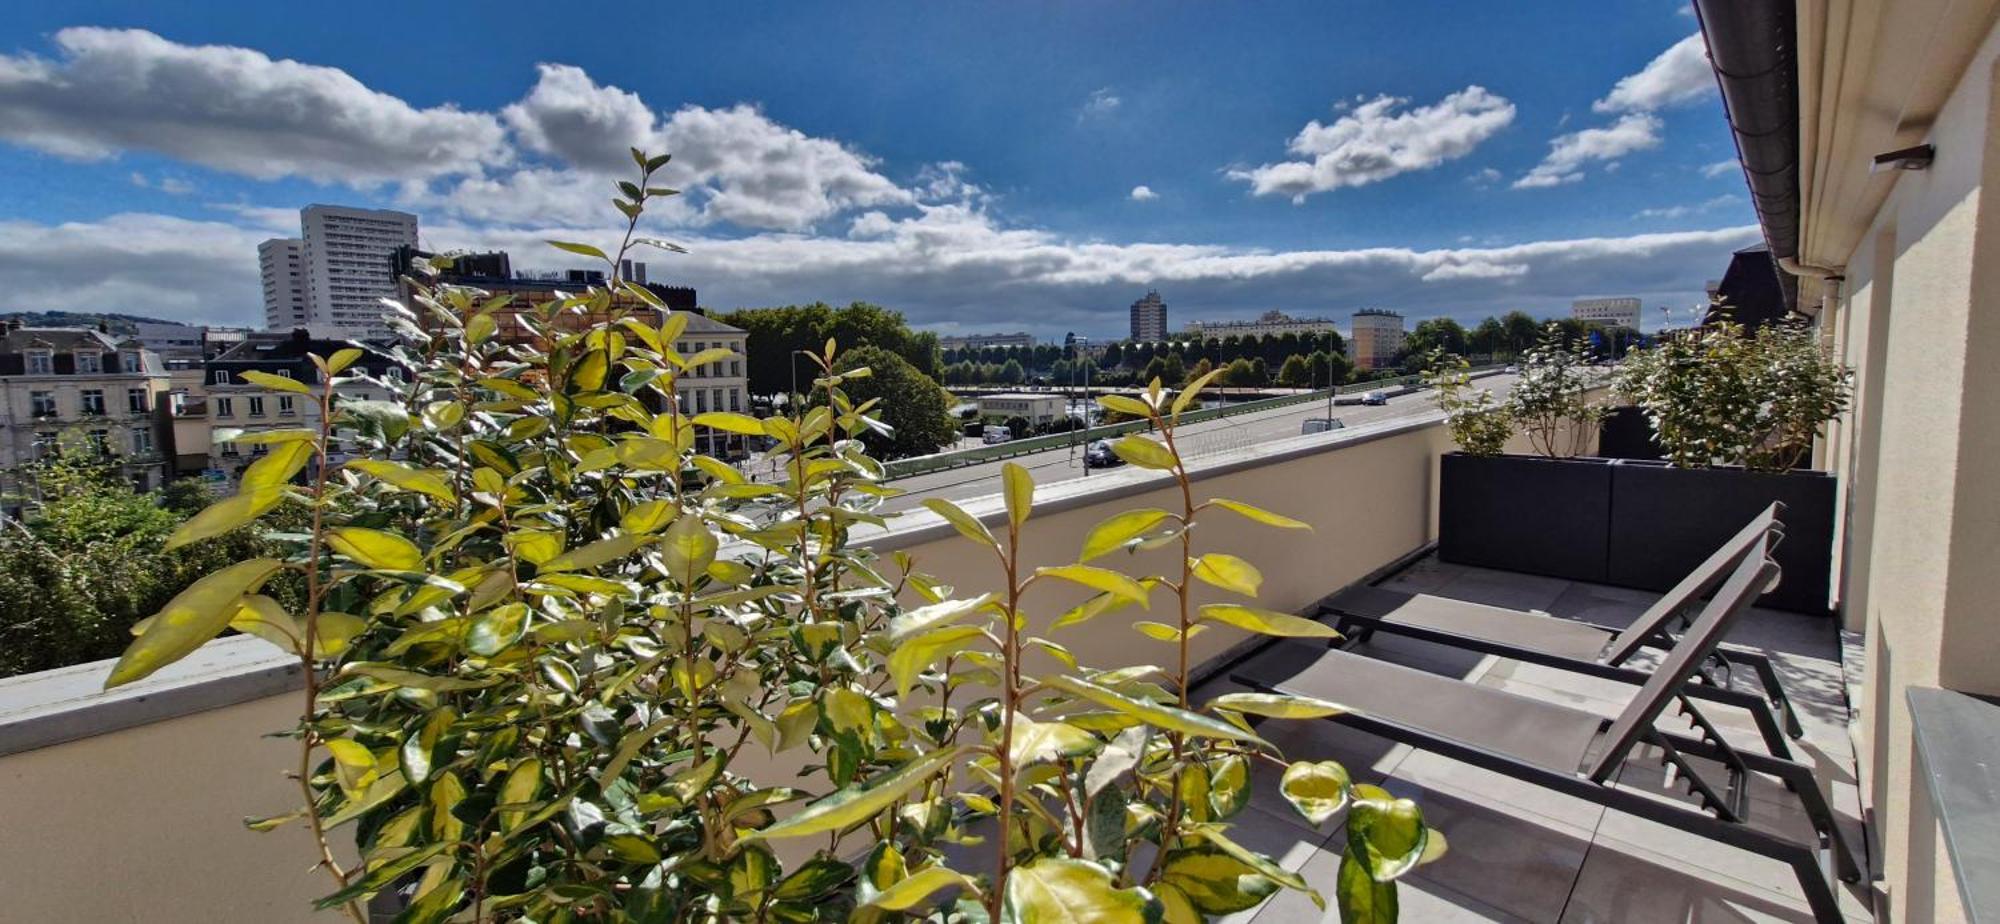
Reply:
<svg viewBox="0 0 2000 924"><path fill-rule="evenodd" d="M682 240L690 254L648 254L648 262L654 278L696 286L716 308L870 300L920 326L1014 316L1060 336L1122 330L1124 306L1146 288L1216 316L1272 304L1318 314L1384 304L1410 316L1478 320L1516 306L1556 310L1598 290L1694 302L1700 280L1758 240L1756 226L1740 226L1430 250L1256 250L1078 240L1012 228L962 202L898 212L906 214L862 212L846 236L694 234ZM256 262L246 254L268 236L266 228L144 214L0 222L0 292L8 292L8 308L144 304L146 314L176 320L254 324L262 308ZM616 244L602 224L438 220L426 222L424 238L434 248L508 250L530 270L576 266L546 240Z"/></svg>

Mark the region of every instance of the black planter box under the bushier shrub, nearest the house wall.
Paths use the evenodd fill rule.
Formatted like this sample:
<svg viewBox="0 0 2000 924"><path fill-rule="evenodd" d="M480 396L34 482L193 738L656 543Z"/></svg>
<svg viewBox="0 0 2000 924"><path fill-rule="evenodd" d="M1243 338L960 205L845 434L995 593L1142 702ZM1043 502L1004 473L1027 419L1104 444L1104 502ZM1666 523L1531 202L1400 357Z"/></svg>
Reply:
<svg viewBox="0 0 2000 924"><path fill-rule="evenodd" d="M1608 582L1666 590L1752 516L1784 504L1778 590L1758 606L1826 614L1834 554L1834 478L1826 472L1682 470L1664 462L1612 468Z"/></svg>

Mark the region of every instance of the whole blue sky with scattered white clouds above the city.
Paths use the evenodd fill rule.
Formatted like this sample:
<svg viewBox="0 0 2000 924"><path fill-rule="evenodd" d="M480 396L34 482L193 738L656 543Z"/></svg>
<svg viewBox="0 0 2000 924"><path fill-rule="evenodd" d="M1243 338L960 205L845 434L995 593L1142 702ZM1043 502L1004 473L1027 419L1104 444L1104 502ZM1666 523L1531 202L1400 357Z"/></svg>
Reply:
<svg viewBox="0 0 2000 924"><path fill-rule="evenodd" d="M1652 0L46 4L0 22L0 310L252 322L308 202L562 266L632 142L690 190L654 276L720 308L1686 308L1756 242L1690 36Z"/></svg>

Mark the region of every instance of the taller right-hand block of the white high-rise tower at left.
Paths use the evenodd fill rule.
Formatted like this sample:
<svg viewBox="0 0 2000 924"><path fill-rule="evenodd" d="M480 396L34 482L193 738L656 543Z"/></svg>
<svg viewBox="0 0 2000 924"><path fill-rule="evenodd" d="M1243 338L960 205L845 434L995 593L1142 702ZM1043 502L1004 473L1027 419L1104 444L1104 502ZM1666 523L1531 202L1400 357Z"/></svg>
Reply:
<svg viewBox="0 0 2000 924"><path fill-rule="evenodd" d="M306 324L388 336L380 300L396 298L390 256L400 246L416 246L416 216L348 206L306 206L298 216Z"/></svg>

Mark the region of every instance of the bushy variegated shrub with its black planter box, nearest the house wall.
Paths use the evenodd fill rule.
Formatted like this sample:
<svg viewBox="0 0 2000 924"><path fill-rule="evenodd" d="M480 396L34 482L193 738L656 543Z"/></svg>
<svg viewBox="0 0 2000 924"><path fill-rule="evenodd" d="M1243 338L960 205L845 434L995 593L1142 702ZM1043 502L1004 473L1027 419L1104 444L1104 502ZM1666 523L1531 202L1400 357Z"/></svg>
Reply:
<svg viewBox="0 0 2000 924"><path fill-rule="evenodd" d="M1778 500L1784 580L1762 604L1826 612L1834 478L1800 466L1820 426L1846 412L1850 372L1818 334L1804 322L1680 332L1628 354L1616 390L1652 424L1666 460L1614 466L1610 580L1668 588Z"/></svg>

